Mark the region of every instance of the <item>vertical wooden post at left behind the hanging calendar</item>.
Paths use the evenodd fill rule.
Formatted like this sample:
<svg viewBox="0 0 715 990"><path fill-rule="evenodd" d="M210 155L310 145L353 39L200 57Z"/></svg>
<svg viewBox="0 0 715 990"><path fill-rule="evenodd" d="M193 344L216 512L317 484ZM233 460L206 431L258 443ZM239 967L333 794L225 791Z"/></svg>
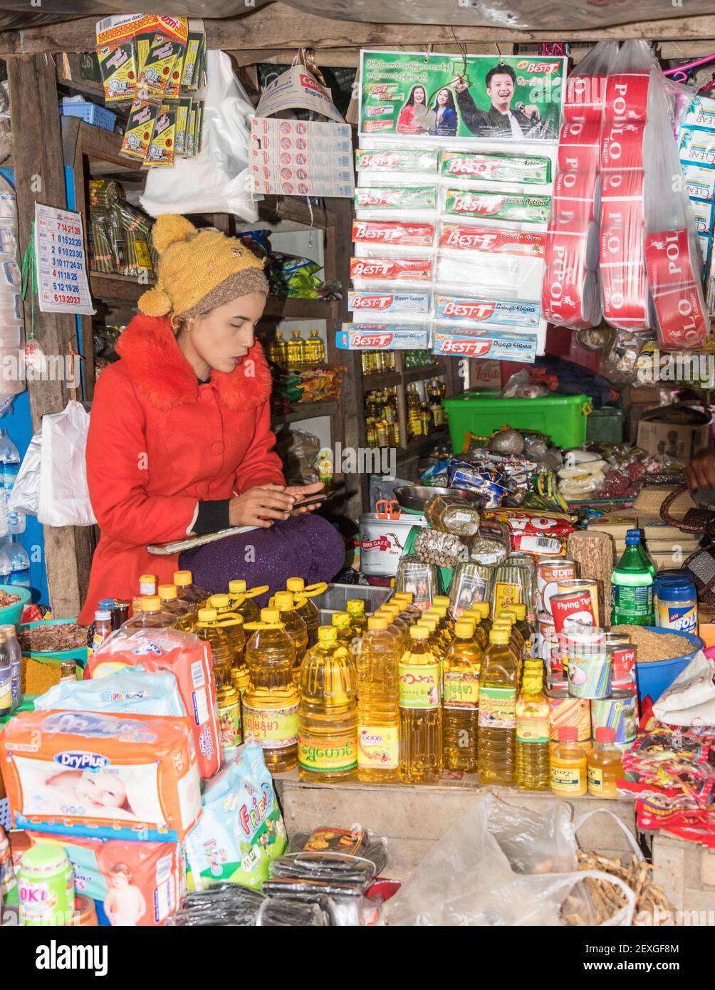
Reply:
<svg viewBox="0 0 715 990"><path fill-rule="evenodd" d="M15 134L20 245L24 248L30 241L36 200L66 207L56 76L49 54L11 55L7 72ZM29 305L25 307L25 319L29 326ZM74 317L41 313L36 305L35 335L48 356L65 355L70 342L76 345ZM28 390L33 430L37 431L46 413L64 408L69 393L63 381L29 382ZM93 544L91 527L45 527L45 564L55 617L73 617L79 612L89 580Z"/></svg>

